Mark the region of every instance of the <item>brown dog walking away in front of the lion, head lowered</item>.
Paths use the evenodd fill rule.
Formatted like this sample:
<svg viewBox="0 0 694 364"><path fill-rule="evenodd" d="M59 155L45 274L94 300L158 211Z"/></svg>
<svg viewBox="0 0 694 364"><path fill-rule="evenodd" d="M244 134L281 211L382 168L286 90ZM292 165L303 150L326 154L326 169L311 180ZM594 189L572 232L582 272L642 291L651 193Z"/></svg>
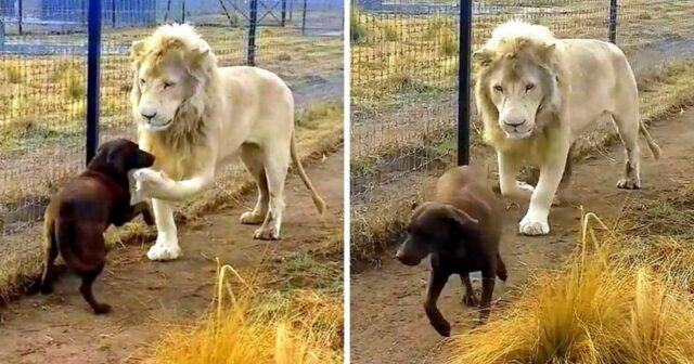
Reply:
<svg viewBox="0 0 694 364"><path fill-rule="evenodd" d="M463 302L477 306L470 272L481 271L483 292L478 324L489 315L494 276L506 281L506 268L499 256L503 207L486 179L470 167L458 167L439 178L433 202L413 206L408 237L396 258L416 265L432 255L432 273L424 310L432 326L450 336L451 326L436 301L452 274L465 285Z"/></svg>

